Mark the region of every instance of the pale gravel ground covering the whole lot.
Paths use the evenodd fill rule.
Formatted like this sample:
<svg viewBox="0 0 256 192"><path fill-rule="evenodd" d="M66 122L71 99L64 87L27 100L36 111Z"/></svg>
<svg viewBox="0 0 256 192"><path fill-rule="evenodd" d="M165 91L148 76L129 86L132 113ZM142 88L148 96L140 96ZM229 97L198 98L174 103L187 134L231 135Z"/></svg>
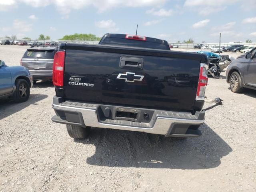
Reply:
<svg viewBox="0 0 256 192"><path fill-rule="evenodd" d="M19 65L26 48L0 46L0 60ZM256 91L234 94L221 77L206 96L223 106L183 141L98 128L74 140L51 121L54 87L37 83L27 102L0 103L0 191L256 191Z"/></svg>

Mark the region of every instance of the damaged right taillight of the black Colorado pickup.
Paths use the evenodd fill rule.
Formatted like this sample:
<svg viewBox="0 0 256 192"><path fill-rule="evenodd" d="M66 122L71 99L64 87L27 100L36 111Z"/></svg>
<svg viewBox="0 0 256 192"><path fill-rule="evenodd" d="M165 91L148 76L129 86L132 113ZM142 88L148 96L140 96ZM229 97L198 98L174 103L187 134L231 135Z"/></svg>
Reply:
<svg viewBox="0 0 256 192"><path fill-rule="evenodd" d="M208 82L207 70L208 70L208 65L201 63L197 92L196 92L196 100L204 100L204 92Z"/></svg>

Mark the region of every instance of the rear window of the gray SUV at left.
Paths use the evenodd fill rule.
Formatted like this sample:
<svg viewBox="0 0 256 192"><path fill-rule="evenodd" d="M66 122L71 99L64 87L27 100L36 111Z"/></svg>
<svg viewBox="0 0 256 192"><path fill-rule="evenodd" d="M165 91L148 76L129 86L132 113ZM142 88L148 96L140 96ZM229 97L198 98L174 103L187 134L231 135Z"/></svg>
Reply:
<svg viewBox="0 0 256 192"><path fill-rule="evenodd" d="M27 50L23 58L31 59L53 59L54 50Z"/></svg>

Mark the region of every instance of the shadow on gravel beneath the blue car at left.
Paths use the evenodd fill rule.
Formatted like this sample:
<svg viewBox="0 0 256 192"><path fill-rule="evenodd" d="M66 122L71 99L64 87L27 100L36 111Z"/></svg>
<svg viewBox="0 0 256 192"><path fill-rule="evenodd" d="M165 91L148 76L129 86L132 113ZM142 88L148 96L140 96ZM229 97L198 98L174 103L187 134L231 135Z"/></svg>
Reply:
<svg viewBox="0 0 256 192"><path fill-rule="evenodd" d="M26 102L15 103L12 100L0 100L0 120L8 117L30 105L37 105L36 102L47 98L48 95L43 94L30 94Z"/></svg>

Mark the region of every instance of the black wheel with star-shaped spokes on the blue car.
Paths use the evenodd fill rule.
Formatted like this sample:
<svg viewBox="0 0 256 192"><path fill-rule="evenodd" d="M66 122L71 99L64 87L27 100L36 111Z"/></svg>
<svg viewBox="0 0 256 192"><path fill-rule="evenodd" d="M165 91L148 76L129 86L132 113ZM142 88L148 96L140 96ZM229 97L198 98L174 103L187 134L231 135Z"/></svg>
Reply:
<svg viewBox="0 0 256 192"><path fill-rule="evenodd" d="M14 92L14 101L17 103L25 102L30 95L30 87L28 82L24 79L17 79L15 81L16 90Z"/></svg>

